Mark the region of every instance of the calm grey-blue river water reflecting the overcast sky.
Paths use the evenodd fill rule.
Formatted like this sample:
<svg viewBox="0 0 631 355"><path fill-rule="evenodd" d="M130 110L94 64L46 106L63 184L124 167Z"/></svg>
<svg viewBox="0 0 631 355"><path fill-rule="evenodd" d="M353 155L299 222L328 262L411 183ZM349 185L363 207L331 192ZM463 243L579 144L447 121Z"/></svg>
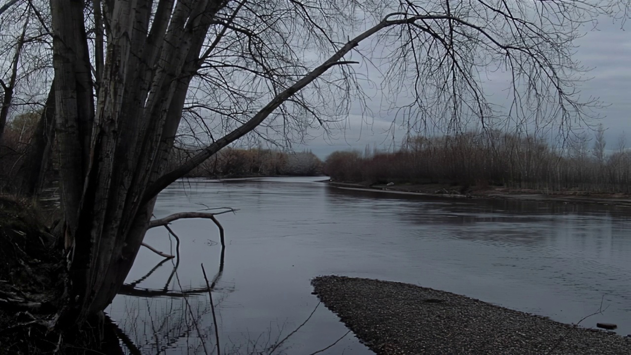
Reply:
<svg viewBox="0 0 631 355"><path fill-rule="evenodd" d="M339 274L409 282L464 294L567 323L618 324L631 334L631 220L628 208L503 200L451 200L343 190L321 178L180 181L163 191L156 217L208 207L226 230L223 272L213 301L222 354L269 352L314 311L310 279ZM180 261L143 248L127 282L155 297L120 295L107 310L143 354L210 354L215 346L204 288L220 268L218 231L209 220L180 220ZM145 239L170 252L163 228ZM274 351L311 354L347 329L320 305ZM199 335L201 334L201 336ZM202 341L203 340L203 341ZM267 351L266 351L267 349ZM372 354L353 334L321 354Z"/></svg>

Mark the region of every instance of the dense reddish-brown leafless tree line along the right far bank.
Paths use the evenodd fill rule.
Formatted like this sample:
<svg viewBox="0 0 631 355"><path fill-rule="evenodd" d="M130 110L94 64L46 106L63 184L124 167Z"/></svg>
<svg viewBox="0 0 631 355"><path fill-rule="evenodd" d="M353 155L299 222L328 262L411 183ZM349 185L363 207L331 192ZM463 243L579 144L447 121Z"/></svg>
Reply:
<svg viewBox="0 0 631 355"><path fill-rule="evenodd" d="M413 136L396 152L338 151L323 171L336 181L505 186L543 191L629 193L624 136L606 153L603 126L555 147L545 138L490 131Z"/></svg>

